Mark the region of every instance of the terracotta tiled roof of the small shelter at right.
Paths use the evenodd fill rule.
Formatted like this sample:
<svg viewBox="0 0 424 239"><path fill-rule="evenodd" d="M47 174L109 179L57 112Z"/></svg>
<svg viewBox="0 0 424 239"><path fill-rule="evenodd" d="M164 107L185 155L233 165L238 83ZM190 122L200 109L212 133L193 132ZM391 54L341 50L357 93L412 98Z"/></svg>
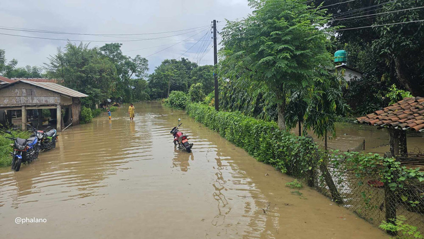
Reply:
<svg viewBox="0 0 424 239"><path fill-rule="evenodd" d="M356 119L364 124L424 132L424 98L404 98L382 110Z"/></svg>

